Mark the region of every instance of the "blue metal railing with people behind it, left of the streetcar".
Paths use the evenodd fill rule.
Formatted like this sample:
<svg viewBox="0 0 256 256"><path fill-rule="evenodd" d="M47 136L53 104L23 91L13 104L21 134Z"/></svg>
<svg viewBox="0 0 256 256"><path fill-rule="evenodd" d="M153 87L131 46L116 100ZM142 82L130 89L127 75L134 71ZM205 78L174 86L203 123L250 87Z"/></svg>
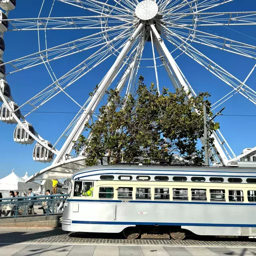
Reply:
<svg viewBox="0 0 256 256"><path fill-rule="evenodd" d="M64 208L67 196L67 194L54 194L50 196L0 198L0 217L18 218L19 216L57 214L59 213L58 210L61 210L60 208ZM40 210L39 213L38 210Z"/></svg>

